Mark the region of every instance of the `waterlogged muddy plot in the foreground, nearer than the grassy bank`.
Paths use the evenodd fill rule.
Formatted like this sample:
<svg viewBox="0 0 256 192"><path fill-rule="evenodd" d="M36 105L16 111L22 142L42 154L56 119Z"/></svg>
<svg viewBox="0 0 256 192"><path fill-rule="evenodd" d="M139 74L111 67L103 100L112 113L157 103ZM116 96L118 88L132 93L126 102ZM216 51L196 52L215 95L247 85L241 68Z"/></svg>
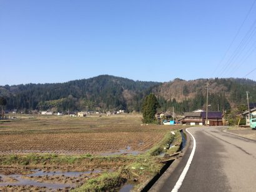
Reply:
<svg viewBox="0 0 256 192"><path fill-rule="evenodd" d="M8 167L7 167L8 168ZM102 170L49 171L49 168L10 168L13 173L0 174L0 190L6 191L69 191L94 178ZM17 173L17 171L21 173ZM1 170L1 172L3 169ZM26 185L24 185L26 183Z"/></svg>

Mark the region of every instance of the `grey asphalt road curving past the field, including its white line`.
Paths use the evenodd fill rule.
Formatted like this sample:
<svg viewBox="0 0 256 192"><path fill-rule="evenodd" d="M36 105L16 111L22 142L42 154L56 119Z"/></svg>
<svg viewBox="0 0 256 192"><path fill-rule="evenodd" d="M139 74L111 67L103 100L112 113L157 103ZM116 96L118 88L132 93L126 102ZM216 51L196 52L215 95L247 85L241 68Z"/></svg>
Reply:
<svg viewBox="0 0 256 192"><path fill-rule="evenodd" d="M188 128L183 158L150 191L256 191L256 141L223 130Z"/></svg>

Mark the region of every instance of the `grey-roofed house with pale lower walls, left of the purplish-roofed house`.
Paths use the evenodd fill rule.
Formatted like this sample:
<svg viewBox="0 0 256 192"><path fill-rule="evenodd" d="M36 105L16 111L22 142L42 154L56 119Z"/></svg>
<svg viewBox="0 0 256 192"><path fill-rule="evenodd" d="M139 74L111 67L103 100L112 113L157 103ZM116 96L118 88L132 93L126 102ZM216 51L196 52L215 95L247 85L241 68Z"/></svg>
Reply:
<svg viewBox="0 0 256 192"><path fill-rule="evenodd" d="M185 117L180 119L182 125L203 125L202 112L185 112Z"/></svg>

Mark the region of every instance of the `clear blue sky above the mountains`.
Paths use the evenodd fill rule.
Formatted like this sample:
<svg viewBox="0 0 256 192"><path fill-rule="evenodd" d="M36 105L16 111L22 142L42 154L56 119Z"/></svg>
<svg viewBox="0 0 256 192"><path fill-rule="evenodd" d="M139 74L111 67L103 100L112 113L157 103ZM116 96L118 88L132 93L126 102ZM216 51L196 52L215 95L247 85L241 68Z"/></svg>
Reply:
<svg viewBox="0 0 256 192"><path fill-rule="evenodd" d="M256 68L256 4L240 28L254 1L0 0L0 85L244 77Z"/></svg>

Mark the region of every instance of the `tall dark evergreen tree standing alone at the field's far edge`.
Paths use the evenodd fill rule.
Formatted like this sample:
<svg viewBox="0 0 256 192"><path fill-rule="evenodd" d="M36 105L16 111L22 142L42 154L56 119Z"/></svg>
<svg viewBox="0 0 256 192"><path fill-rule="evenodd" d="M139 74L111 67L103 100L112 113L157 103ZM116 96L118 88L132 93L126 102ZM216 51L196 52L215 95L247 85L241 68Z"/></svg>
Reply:
<svg viewBox="0 0 256 192"><path fill-rule="evenodd" d="M144 98L142 103L142 114L144 123L153 123L155 121L155 113L157 113L157 108L159 108L159 102L154 94L149 94Z"/></svg>

